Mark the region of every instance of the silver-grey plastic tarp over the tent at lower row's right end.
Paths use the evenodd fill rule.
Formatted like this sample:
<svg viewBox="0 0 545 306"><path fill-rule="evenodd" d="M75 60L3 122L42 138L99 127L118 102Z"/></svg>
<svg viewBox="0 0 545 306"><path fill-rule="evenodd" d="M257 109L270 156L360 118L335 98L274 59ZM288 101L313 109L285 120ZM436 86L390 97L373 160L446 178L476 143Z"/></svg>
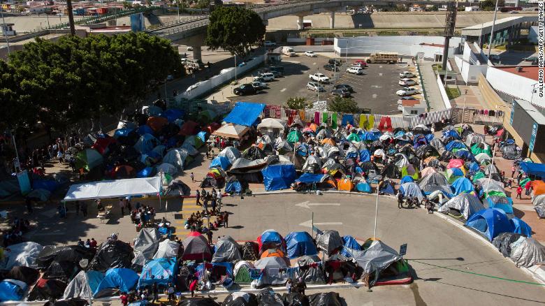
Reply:
<svg viewBox="0 0 545 306"><path fill-rule="evenodd" d="M377 282L380 273L388 268L388 265L402 259L398 252L380 240L373 241L364 251L348 249L348 252L364 272L368 274L375 272L375 279L370 279L372 284Z"/></svg>

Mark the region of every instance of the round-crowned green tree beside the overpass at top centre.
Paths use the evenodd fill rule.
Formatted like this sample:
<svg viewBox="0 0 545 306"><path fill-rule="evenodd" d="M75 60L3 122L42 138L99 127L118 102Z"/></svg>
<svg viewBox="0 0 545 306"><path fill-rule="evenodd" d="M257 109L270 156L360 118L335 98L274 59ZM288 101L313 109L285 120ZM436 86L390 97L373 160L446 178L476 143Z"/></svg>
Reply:
<svg viewBox="0 0 545 306"><path fill-rule="evenodd" d="M265 35L265 25L253 10L237 6L219 7L210 14L206 45L244 56Z"/></svg>

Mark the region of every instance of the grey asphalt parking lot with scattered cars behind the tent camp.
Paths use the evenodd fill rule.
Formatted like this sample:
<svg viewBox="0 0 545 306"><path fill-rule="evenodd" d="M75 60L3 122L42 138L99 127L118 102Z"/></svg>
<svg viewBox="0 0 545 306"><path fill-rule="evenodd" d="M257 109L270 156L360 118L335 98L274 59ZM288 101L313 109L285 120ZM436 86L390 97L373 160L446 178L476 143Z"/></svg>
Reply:
<svg viewBox="0 0 545 306"><path fill-rule="evenodd" d="M395 94L402 87L398 84L399 73L407 71L407 64L369 64L363 75L352 75L342 69L342 76L329 85L324 85L326 92L312 92L307 89L309 75L324 73L333 79L333 71L326 71L324 65L334 57L333 53L318 53L318 57L306 57L298 53L297 57L284 57L284 76L268 82L268 89L252 96L232 96L232 101L254 101L271 105L283 105L287 99L303 96L308 101L324 101L333 99L331 89L337 84L347 84L354 88L352 98L359 108L370 108L375 114L399 114ZM348 58L352 63L358 58ZM344 58L342 58L344 61ZM338 72L337 72L338 73ZM257 71L254 71L257 75Z"/></svg>

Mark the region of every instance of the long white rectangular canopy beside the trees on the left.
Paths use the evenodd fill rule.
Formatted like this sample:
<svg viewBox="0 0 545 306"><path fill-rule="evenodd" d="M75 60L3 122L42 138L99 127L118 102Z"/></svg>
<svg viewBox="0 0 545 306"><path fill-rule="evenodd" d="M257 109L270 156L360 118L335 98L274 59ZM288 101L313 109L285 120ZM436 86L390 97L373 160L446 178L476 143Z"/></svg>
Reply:
<svg viewBox="0 0 545 306"><path fill-rule="evenodd" d="M73 184L64 201L92 200L95 198L119 198L142 194L159 194L161 177L133 178Z"/></svg>

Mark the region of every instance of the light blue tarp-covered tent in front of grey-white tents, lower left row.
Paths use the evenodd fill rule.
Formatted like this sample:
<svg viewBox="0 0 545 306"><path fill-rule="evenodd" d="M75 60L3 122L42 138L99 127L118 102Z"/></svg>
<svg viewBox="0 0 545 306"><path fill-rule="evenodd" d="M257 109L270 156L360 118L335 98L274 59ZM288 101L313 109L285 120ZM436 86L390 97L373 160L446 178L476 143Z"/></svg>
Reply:
<svg viewBox="0 0 545 306"><path fill-rule="evenodd" d="M146 263L140 273L138 279L138 288L152 286L157 283L157 286L168 286L173 282L177 270L176 258L159 258Z"/></svg>

